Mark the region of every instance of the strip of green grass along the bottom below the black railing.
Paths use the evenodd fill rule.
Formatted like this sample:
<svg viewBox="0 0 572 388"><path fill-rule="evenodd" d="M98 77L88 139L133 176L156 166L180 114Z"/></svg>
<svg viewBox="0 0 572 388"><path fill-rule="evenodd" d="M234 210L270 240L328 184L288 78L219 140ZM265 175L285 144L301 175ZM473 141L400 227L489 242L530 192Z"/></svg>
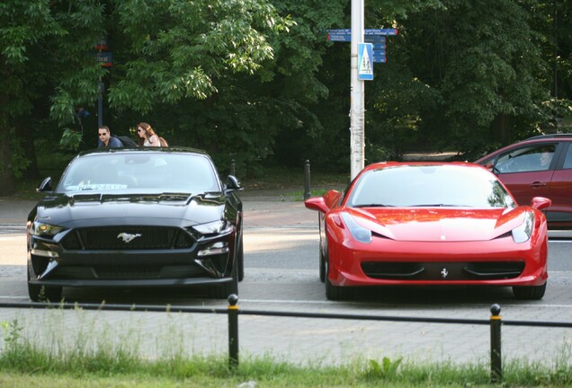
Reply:
<svg viewBox="0 0 572 388"><path fill-rule="evenodd" d="M24 349L22 349L24 350ZM31 351L31 350L29 350ZM185 387L486 387L487 366L399 363L395 369L378 368L380 360L354 360L343 366L299 366L272 357L249 358L229 369L224 357L192 357L163 360L74 358L61 360L44 353L22 357L6 366L0 358L0 385L50 386L185 386ZM40 361L40 365L38 362ZM386 361L388 361L386 359ZM396 361L388 361L395 363ZM568 387L567 369L513 363L505 367L504 386ZM242 384L242 385L241 385Z"/></svg>

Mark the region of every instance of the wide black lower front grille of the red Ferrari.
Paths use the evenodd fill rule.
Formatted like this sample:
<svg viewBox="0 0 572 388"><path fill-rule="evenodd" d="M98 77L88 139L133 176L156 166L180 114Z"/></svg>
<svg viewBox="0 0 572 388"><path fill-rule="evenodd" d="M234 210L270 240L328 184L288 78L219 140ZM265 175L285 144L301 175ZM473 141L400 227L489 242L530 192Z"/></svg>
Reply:
<svg viewBox="0 0 572 388"><path fill-rule="evenodd" d="M362 262L370 278L393 280L494 280L518 278L522 261L474 262Z"/></svg>

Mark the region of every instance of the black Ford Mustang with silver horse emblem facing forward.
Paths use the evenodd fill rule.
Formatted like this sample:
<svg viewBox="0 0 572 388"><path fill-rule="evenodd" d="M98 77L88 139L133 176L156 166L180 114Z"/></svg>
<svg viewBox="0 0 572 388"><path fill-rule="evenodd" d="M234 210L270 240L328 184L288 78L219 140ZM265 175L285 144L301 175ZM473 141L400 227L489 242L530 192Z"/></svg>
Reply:
<svg viewBox="0 0 572 388"><path fill-rule="evenodd" d="M241 187L189 148L78 154L28 216L28 290L205 286L237 293L244 277Z"/></svg>

